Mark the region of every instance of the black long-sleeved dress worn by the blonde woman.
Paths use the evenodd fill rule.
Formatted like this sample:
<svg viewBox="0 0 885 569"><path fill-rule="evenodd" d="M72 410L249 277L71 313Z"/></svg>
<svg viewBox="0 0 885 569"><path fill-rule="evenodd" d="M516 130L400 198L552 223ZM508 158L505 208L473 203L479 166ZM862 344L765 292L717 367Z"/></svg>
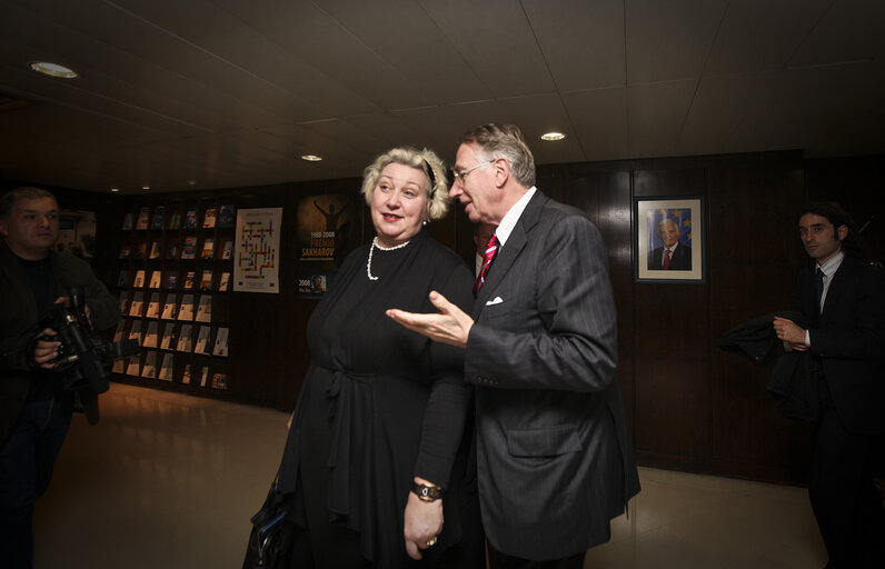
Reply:
<svg viewBox="0 0 885 569"><path fill-rule="evenodd" d="M431 342L385 315L390 308L436 312L431 290L469 311L473 278L424 230L404 248L375 248L377 280L367 276L369 250L366 244L348 256L310 317L311 361L280 489L292 492L294 518L307 530L316 566L340 559L341 536L349 533L362 558L395 568L412 562L402 517L412 478L421 477L447 490L444 530L425 558L467 547L471 551L461 553L484 567L464 350Z"/></svg>

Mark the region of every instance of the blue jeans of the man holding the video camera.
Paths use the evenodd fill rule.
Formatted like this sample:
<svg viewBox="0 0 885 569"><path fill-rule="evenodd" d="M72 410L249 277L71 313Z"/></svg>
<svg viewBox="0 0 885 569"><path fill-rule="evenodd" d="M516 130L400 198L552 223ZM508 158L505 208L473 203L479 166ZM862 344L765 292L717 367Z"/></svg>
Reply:
<svg viewBox="0 0 885 569"><path fill-rule="evenodd" d="M0 560L4 568L33 566L33 506L52 478L72 409L72 395L26 403L0 449Z"/></svg>

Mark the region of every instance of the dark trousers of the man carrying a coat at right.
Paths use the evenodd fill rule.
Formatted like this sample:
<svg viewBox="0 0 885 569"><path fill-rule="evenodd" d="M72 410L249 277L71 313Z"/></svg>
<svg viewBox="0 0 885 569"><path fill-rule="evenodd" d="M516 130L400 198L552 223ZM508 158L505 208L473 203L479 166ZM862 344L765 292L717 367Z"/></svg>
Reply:
<svg viewBox="0 0 885 569"><path fill-rule="evenodd" d="M845 430L826 406L815 428L808 480L828 568L885 567L885 510L873 481L881 437Z"/></svg>

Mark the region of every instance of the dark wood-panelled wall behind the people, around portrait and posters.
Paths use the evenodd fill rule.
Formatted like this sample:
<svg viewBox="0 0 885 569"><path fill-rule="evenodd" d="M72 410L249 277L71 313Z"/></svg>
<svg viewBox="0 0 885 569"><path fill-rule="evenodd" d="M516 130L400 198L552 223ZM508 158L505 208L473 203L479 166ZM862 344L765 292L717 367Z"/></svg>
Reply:
<svg viewBox="0 0 885 569"><path fill-rule="evenodd" d="M884 163L883 157L804 160L799 151L785 151L538 169L538 188L587 212L605 238L619 319L618 380L642 463L804 481L809 426L780 417L765 390L770 366L723 353L715 342L734 326L788 306L797 270L807 262L796 229L806 200L842 201L861 222L874 217L864 232L865 253L885 260L885 192L878 188ZM359 180L348 179L207 196L236 196L239 207L282 207L284 247L294 252L295 232L286 227L298 200L358 188ZM633 200L653 196L705 199L705 283L634 281ZM113 241L113 230L102 227L119 227L105 222L131 201L106 201L100 241ZM365 217L362 226L367 240L372 230ZM459 207L430 231L461 256L471 253L471 228ZM116 244L107 247L100 254L112 259ZM220 397L294 407L309 360L306 323L316 306L295 298L295 274L294 253L284 253L279 295L232 293L230 390Z"/></svg>

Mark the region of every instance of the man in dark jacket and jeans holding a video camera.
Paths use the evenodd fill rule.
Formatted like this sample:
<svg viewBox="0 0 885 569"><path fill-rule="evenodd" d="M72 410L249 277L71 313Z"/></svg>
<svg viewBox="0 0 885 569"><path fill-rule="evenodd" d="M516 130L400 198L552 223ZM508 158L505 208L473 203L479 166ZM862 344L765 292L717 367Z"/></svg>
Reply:
<svg viewBox="0 0 885 569"><path fill-rule="evenodd" d="M40 316L69 305L70 289L79 287L97 328L120 319L117 300L89 266L52 251L58 232L50 192L19 188L0 198L0 559L16 569L32 567L34 502L49 486L74 399L98 421L95 391L64 389L66 372L53 363L61 342L40 329Z"/></svg>

